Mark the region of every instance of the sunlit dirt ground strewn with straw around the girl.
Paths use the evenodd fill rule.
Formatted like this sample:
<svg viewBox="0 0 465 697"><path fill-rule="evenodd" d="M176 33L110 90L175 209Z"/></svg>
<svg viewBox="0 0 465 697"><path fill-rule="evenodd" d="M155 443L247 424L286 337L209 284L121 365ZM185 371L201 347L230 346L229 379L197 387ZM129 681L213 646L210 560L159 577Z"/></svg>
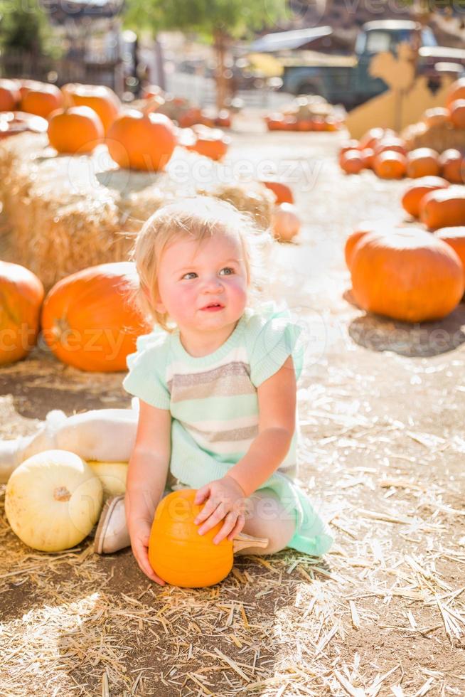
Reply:
<svg viewBox="0 0 465 697"><path fill-rule="evenodd" d="M213 588L161 589L129 549L34 553L2 507L4 695L465 694L465 306L411 327L349 304L343 240L360 220L402 220L405 184L343 176L339 134L246 126L231 171L277 163L304 223L274 253L270 293L308 329L300 479L333 548L241 557ZM121 379L36 351L0 373L1 434L53 408L127 406Z"/></svg>

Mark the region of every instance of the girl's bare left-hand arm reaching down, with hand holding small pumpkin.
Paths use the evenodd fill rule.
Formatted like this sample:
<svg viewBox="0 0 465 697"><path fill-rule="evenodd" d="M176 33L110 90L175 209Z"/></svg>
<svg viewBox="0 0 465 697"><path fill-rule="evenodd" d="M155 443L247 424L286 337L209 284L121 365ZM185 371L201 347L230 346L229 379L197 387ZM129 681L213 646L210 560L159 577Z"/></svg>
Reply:
<svg viewBox="0 0 465 697"><path fill-rule="evenodd" d="M171 457L171 413L139 400L136 442L129 459L124 506L134 556L141 570L160 582L147 548L156 506L164 493Z"/></svg>

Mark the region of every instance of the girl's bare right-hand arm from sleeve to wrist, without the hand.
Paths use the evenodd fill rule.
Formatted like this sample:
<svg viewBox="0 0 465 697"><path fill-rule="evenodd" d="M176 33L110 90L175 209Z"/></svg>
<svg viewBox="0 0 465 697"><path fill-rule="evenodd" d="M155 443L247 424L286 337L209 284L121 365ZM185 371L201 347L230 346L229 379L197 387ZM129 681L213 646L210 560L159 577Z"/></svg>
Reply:
<svg viewBox="0 0 465 697"><path fill-rule="evenodd" d="M279 467L289 451L296 425L296 375L292 356L257 387L258 435L247 453L228 470L250 496Z"/></svg>

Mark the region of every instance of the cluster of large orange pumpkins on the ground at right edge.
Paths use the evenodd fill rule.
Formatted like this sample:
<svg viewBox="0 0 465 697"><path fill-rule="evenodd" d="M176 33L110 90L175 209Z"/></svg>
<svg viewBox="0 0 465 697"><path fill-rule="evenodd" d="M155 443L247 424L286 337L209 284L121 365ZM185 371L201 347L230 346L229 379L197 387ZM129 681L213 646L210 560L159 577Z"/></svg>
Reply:
<svg viewBox="0 0 465 697"><path fill-rule="evenodd" d="M391 319L442 319L465 292L465 186L417 179L402 206L424 228L365 223L348 236L353 297L361 309Z"/></svg>

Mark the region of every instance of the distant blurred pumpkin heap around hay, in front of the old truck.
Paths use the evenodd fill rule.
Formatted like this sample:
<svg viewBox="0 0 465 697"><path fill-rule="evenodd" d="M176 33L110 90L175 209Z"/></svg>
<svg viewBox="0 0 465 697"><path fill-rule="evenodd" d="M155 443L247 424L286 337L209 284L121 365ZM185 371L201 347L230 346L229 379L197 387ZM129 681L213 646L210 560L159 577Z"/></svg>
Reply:
<svg viewBox="0 0 465 697"><path fill-rule="evenodd" d="M345 113L328 104L324 97L296 97L281 112L264 117L269 131L338 131L343 127Z"/></svg>

